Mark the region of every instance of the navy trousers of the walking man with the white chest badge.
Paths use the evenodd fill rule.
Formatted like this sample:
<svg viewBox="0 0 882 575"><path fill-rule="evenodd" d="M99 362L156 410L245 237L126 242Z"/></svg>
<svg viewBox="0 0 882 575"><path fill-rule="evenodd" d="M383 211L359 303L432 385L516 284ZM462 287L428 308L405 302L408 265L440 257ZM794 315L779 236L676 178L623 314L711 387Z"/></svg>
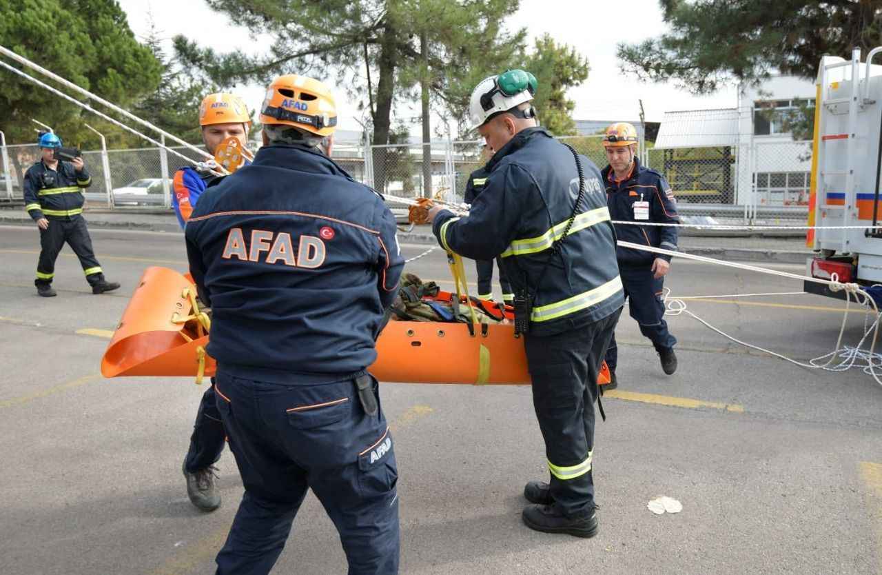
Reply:
<svg viewBox="0 0 882 575"><path fill-rule="evenodd" d="M624 297L628 300L631 317L637 320L640 333L653 342L655 349L674 347L676 338L668 331L668 322L664 320L664 278L656 280L649 267L620 267ZM609 341L606 362L610 370L615 371L618 364L618 347L616 336Z"/></svg>

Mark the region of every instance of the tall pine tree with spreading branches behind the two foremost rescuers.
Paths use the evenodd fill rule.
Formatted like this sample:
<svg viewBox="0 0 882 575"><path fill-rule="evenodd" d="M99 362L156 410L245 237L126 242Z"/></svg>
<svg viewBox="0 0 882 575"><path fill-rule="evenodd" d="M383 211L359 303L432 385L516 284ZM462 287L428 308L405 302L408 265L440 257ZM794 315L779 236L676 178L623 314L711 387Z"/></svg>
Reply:
<svg viewBox="0 0 882 575"><path fill-rule="evenodd" d="M517 0L206 0L251 34L269 34L269 53L218 54L176 38L186 62L221 86L266 83L282 73L309 74L336 84L361 102L375 144L387 144L396 99L415 100L428 78L431 95L461 116L477 81L510 61L524 33L505 33L502 20ZM426 49L421 49L425 37ZM375 174L384 170L375 157ZM382 182L377 182L377 186Z"/></svg>

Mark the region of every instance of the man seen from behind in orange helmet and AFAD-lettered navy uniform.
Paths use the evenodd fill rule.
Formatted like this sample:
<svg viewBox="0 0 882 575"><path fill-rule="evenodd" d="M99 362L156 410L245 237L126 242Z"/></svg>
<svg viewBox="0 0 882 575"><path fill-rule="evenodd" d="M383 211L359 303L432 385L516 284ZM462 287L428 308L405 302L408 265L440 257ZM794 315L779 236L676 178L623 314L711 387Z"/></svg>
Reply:
<svg viewBox="0 0 882 575"><path fill-rule="evenodd" d="M324 84L276 78L260 123L265 146L199 198L185 230L245 487L217 573L268 573L310 488L350 574L397 573L398 471L366 372L404 266L395 218L327 157Z"/></svg>

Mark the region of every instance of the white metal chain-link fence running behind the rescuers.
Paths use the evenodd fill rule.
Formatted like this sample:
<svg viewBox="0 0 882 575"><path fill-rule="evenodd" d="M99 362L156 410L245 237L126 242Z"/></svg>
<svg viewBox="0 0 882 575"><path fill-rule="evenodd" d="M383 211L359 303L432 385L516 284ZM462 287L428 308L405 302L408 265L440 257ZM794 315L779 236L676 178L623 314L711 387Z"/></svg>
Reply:
<svg viewBox="0 0 882 575"><path fill-rule="evenodd" d="M561 140L599 168L606 165L600 136ZM355 180L385 194L461 201L468 175L486 161L483 142L437 140L425 147L424 153L420 143L369 146L365 138L335 142L333 158ZM197 153L173 149L198 160ZM2 146L0 199L22 199L22 178L39 157L35 145ZM685 216L780 225L804 225L806 220L810 141L754 139L741 146L664 150L647 146L641 147L639 157L667 178ZM171 178L187 163L157 147L86 151L83 160L93 178L86 198L92 205L109 207L168 208Z"/></svg>

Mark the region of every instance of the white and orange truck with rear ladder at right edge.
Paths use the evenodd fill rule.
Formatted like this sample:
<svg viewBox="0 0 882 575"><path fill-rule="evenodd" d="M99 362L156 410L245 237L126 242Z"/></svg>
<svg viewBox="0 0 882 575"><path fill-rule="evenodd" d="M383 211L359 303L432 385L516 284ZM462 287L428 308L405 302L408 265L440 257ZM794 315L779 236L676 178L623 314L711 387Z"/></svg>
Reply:
<svg viewBox="0 0 882 575"><path fill-rule="evenodd" d="M882 65L870 51L851 59L824 56L818 68L811 154L810 227L806 244L818 255L808 275L869 287L882 284ZM836 227L836 228L828 228ZM844 291L804 282L806 292L843 299Z"/></svg>

